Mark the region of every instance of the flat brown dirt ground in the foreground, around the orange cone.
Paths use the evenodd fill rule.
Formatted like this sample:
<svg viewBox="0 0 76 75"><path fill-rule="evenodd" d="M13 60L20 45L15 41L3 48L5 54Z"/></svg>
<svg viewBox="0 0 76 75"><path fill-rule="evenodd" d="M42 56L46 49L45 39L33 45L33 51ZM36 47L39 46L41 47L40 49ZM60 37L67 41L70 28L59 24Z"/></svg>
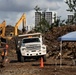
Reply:
<svg viewBox="0 0 76 75"><path fill-rule="evenodd" d="M0 75L76 75L76 66L71 59L60 60L47 58L44 67L40 65L40 60L27 60L23 63L18 62L15 55L8 56L9 63L5 67L0 67Z"/></svg>

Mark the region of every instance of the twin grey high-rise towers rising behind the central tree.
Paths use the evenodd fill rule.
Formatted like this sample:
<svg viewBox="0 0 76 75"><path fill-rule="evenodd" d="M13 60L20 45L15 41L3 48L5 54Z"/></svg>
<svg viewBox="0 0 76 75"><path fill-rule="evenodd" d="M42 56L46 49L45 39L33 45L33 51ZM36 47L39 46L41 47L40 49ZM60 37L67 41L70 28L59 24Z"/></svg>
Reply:
<svg viewBox="0 0 76 75"><path fill-rule="evenodd" d="M51 25L54 22L54 13L55 12L35 12L35 25L37 26L41 20L41 18L45 18L45 20ZM57 14L57 13L56 13ZM41 16L42 15L42 16Z"/></svg>

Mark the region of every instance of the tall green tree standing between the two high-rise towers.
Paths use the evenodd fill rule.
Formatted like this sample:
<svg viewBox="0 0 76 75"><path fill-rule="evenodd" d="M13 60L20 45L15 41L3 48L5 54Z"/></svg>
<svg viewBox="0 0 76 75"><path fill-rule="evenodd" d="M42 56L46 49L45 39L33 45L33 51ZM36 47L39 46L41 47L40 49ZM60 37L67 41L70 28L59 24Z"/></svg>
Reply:
<svg viewBox="0 0 76 75"><path fill-rule="evenodd" d="M44 13L39 12L39 10L41 10L41 9L38 6L36 6L34 9L37 13L40 14L40 22L37 26L35 26L35 31L41 32L41 33L48 31L50 29L50 25L47 22L47 20L45 19L45 12L46 11Z"/></svg>

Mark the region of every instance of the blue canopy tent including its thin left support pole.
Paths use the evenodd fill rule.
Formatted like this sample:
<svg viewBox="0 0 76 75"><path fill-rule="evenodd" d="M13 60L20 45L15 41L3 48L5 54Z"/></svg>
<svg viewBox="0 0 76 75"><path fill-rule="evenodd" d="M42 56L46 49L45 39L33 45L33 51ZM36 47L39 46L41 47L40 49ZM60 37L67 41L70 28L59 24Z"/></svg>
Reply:
<svg viewBox="0 0 76 75"><path fill-rule="evenodd" d="M58 41L60 41L60 67L62 66L62 42L63 41L76 41L76 31L67 33L61 37L58 38Z"/></svg>

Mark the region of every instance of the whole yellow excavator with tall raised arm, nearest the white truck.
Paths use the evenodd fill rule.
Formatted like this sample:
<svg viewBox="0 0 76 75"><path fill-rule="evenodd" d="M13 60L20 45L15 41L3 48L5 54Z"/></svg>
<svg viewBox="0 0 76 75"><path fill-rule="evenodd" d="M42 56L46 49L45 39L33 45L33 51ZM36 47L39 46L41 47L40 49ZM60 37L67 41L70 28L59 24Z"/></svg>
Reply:
<svg viewBox="0 0 76 75"><path fill-rule="evenodd" d="M14 32L10 32L10 35L11 35L11 36L17 36L17 35L18 35L18 26L21 24L21 22L23 23L22 32L25 32L26 15L23 14L23 15L21 16L21 18L18 20L18 22L16 23L15 28L14 28Z"/></svg>

